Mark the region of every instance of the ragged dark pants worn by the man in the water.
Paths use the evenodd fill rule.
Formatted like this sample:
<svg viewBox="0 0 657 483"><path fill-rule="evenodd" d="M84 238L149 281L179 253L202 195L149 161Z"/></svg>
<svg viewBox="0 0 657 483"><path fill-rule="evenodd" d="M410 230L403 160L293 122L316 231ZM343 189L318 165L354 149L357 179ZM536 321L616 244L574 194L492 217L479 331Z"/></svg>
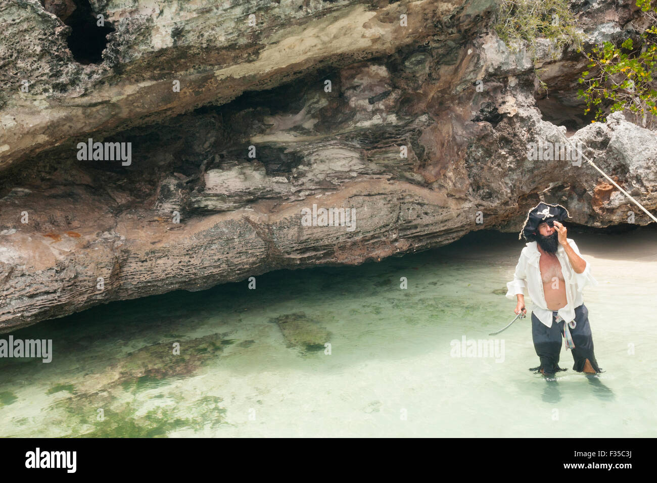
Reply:
<svg viewBox="0 0 657 483"><path fill-rule="evenodd" d="M541 365L536 367L537 372L543 369L544 373L555 373L565 371L558 365L561 352L562 338L564 336L564 323L556 323L556 317L552 316L552 327L546 327L532 312L532 340L536 355L541 360ZM575 348L571 349L575 365L574 371L582 372L586 359L589 359L591 367L600 373L600 368L593 354L593 336L589 325L589 310L584 304L575 309L575 329L570 329ZM531 369L534 370L534 369Z"/></svg>

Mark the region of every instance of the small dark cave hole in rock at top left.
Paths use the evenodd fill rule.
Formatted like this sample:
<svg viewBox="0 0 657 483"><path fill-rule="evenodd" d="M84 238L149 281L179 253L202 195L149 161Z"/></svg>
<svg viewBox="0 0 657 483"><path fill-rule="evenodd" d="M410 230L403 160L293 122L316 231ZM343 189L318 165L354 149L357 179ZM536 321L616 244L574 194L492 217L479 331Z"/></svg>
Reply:
<svg viewBox="0 0 657 483"><path fill-rule="evenodd" d="M106 35L114 32L107 21L98 25L99 19L91 9L89 0L70 0L75 5L74 11L64 20L70 26L71 34L66 42L73 58L80 64L100 64L102 52L107 47Z"/></svg>

